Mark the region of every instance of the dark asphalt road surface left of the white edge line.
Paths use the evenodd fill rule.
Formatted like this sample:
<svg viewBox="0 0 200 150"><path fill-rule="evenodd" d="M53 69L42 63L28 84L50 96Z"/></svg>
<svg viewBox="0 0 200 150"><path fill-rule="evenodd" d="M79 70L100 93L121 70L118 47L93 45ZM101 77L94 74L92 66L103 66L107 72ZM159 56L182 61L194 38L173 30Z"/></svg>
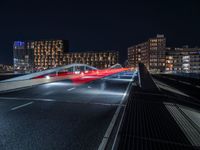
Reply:
<svg viewBox="0 0 200 150"><path fill-rule="evenodd" d="M0 149L98 149L130 82L120 75L0 94Z"/></svg>

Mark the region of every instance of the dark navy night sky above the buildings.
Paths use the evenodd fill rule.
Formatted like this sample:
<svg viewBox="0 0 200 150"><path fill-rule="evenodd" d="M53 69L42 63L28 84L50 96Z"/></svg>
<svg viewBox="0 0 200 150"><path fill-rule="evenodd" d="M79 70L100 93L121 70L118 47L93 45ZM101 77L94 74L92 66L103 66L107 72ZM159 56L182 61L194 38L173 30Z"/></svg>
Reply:
<svg viewBox="0 0 200 150"><path fill-rule="evenodd" d="M198 0L1 0L0 64L12 64L15 40L66 39L70 51L119 50L157 33L168 46L200 47Z"/></svg>

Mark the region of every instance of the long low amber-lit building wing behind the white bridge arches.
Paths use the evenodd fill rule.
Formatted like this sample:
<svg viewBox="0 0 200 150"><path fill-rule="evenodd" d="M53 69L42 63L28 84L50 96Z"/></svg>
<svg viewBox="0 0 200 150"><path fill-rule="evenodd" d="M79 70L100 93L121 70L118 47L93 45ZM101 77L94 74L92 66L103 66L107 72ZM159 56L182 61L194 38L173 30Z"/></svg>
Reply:
<svg viewBox="0 0 200 150"><path fill-rule="evenodd" d="M118 63L117 51L101 52L73 52L66 53L63 58L64 64L82 63L99 69L108 68Z"/></svg>

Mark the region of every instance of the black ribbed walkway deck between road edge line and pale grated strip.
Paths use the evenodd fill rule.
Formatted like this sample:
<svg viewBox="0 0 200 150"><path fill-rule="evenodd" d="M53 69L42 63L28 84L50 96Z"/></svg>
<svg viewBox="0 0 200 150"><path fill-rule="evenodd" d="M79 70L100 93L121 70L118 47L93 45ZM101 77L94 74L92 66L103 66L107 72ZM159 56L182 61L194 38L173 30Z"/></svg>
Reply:
<svg viewBox="0 0 200 150"><path fill-rule="evenodd" d="M166 109L165 103L171 100L162 94L142 92L135 88L129 97L118 150L193 150Z"/></svg>

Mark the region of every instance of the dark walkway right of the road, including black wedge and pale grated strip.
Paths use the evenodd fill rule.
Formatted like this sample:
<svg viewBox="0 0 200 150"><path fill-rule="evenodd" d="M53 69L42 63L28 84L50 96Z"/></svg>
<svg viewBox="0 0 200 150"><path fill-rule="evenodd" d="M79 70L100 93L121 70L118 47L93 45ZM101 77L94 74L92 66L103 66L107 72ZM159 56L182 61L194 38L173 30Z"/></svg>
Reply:
<svg viewBox="0 0 200 150"><path fill-rule="evenodd" d="M182 90L152 80L144 66L139 65L138 76L143 83L131 88L113 148L199 150L199 103Z"/></svg>

